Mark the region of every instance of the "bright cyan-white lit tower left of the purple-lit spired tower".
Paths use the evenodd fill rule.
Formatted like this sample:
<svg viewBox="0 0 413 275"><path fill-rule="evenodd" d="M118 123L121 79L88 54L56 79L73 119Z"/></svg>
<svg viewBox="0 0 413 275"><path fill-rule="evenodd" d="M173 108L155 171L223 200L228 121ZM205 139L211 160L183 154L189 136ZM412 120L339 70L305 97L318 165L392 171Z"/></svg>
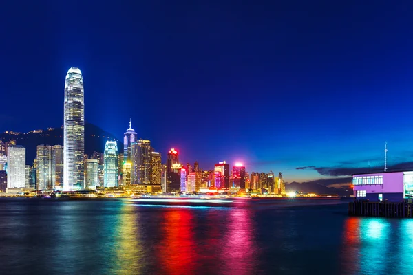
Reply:
<svg viewBox="0 0 413 275"><path fill-rule="evenodd" d="M105 144L104 186L118 186L118 144L107 141Z"/></svg>

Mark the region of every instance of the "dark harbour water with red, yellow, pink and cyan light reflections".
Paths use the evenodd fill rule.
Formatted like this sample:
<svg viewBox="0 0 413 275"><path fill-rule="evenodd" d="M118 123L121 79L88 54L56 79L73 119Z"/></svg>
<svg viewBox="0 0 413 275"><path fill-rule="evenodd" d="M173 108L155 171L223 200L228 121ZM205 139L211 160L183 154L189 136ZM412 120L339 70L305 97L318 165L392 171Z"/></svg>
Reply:
<svg viewBox="0 0 413 275"><path fill-rule="evenodd" d="M0 274L413 274L413 220L328 203L0 199Z"/></svg>

